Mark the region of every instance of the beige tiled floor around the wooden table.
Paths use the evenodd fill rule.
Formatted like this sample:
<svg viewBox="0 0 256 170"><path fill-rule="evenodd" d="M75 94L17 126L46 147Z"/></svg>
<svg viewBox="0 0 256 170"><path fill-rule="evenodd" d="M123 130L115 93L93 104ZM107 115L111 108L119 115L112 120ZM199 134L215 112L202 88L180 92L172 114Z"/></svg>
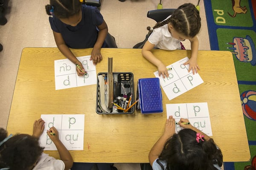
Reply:
<svg viewBox="0 0 256 170"><path fill-rule="evenodd" d="M177 8L186 0L162 0L163 8ZM191 0L197 4L198 0ZM9 0L6 18L0 26L0 127L6 128L15 87L21 51L25 47L56 47L49 26L45 5L49 0ZM146 17L147 11L157 8L159 0L102 0L100 11L108 24L109 32L116 38L119 48L132 48L147 34L146 27L154 26L154 20ZM201 1L201 31L198 34L199 50L210 50L204 1ZM190 43L184 43L190 49ZM119 170L140 170L140 164L116 164Z"/></svg>

